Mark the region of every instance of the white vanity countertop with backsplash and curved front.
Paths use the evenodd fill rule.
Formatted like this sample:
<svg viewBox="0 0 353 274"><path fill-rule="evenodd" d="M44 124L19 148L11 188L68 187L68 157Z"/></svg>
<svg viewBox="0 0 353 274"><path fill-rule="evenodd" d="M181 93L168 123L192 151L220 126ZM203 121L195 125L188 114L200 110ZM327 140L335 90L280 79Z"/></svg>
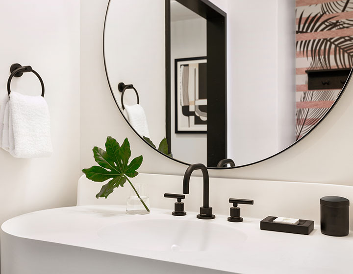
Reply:
<svg viewBox="0 0 353 274"><path fill-rule="evenodd" d="M200 220L202 178L191 179L186 216L172 216L174 201L163 198L166 191L180 192L182 176L140 174L135 182L148 184L151 214L125 213L128 186L107 200L96 200L101 183L82 177L78 206L6 221L1 227L1 273L331 274L351 267L353 234L321 234L319 198L329 194L352 200L353 187L211 178L216 219ZM252 206L242 205L244 222L227 222L229 195L254 200ZM268 215L314 220L315 228L309 235L260 230L260 220Z"/></svg>

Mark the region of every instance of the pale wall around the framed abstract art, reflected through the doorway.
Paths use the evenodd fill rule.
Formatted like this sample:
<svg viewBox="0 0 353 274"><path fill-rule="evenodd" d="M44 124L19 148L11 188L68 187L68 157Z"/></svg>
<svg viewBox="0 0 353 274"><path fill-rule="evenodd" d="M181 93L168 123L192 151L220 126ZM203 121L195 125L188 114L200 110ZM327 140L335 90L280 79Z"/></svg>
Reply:
<svg viewBox="0 0 353 274"><path fill-rule="evenodd" d="M207 164L207 136L175 133L175 59L206 56L206 37L206 20L202 17L171 22L172 153L187 163Z"/></svg>

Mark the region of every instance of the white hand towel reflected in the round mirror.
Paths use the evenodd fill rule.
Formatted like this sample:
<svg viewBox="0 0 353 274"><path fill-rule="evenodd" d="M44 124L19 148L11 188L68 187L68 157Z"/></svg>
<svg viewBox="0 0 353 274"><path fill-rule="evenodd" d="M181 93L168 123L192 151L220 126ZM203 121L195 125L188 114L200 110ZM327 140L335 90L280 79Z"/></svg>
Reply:
<svg viewBox="0 0 353 274"><path fill-rule="evenodd" d="M132 106L125 105L124 114L139 135L150 138L146 114L143 107L139 104Z"/></svg>

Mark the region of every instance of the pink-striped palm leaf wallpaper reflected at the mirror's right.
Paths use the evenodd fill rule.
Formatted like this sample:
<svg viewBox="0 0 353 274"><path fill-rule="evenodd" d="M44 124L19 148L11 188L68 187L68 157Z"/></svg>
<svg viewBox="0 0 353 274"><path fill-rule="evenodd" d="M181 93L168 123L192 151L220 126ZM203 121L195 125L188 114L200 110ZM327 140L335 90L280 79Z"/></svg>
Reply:
<svg viewBox="0 0 353 274"><path fill-rule="evenodd" d="M305 70L351 68L353 0L296 0L296 139L328 111L340 90L309 91Z"/></svg>

